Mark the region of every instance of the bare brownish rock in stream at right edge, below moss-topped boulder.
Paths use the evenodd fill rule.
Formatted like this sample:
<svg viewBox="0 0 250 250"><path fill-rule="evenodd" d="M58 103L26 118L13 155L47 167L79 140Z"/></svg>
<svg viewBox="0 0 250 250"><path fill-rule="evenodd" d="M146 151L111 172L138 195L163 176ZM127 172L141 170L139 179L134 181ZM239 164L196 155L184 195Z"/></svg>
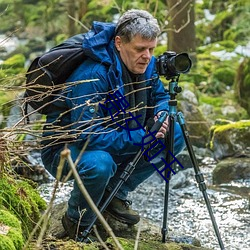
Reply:
<svg viewBox="0 0 250 250"><path fill-rule="evenodd" d="M250 158L226 158L220 161L213 171L213 183L228 183L250 178Z"/></svg>

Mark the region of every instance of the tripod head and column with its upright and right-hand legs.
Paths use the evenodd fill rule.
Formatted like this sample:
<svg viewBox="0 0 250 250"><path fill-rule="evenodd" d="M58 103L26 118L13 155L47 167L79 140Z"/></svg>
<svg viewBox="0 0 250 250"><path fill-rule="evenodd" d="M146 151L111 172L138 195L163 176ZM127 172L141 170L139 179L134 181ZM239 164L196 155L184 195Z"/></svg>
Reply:
<svg viewBox="0 0 250 250"><path fill-rule="evenodd" d="M218 239L219 245L221 250L224 250L225 247L223 245L221 236L220 236L220 232L218 229L218 226L216 224L216 220L212 211L212 207L210 204L210 201L208 199L208 195L206 192L206 184L204 182L204 177L203 174L201 173L199 166L198 166L198 162L197 159L195 157L191 142L190 142L190 138L189 138L189 133L187 131L186 128L186 124L185 124L185 120L184 120L184 116L181 112L177 113L177 100L176 100L176 95L177 93L180 93L182 91L181 87L178 86L178 80L179 80L179 76L174 79L172 78L172 80L169 82L169 94L170 94L170 100L169 100L169 133L168 136L166 138L167 141L167 145L169 146L169 151L170 152L174 152L174 123L175 123L175 118L177 117L177 120L181 126L181 130L183 133L183 137L187 146L187 150L191 159L191 162L193 164L194 167L194 171L195 171L195 179L198 183L199 189L202 192L203 198L205 200L209 215L210 215L210 219L212 221L213 224L213 228L216 234L216 237ZM167 155L166 155L166 162L167 164L170 165L170 163L172 162L172 154L169 153L169 151L167 151ZM167 178L167 171L165 171L165 178ZM170 179L170 178L168 178ZM165 243L166 242L166 234L167 234L167 214L168 214L168 196L169 196L169 182L166 182L165 184L165 200L164 200L164 215L163 215L163 226L162 226L162 242Z"/></svg>

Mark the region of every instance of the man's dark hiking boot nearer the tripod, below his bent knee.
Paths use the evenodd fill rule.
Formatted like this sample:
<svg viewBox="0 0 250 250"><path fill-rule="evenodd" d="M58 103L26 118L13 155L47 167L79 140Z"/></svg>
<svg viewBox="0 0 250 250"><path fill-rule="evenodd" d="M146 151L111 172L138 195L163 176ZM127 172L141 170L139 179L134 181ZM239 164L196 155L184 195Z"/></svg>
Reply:
<svg viewBox="0 0 250 250"><path fill-rule="evenodd" d="M140 221L140 216L130 208L131 205L132 201L114 197L105 211L122 223L134 225Z"/></svg>

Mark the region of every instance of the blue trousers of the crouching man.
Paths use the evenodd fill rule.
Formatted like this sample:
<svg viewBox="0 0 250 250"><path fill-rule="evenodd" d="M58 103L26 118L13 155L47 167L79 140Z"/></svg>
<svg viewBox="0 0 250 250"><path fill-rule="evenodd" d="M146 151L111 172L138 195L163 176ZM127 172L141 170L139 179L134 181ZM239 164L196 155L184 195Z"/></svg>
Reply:
<svg viewBox="0 0 250 250"><path fill-rule="evenodd" d="M180 153L185 147L184 138L178 123L175 123L174 135L174 154L175 156ZM78 148L74 143L69 144L68 148L71 151L71 157L75 161L80 154L81 148ZM57 167L60 160L60 152L62 149L54 150L53 147L47 148L42 151L42 160L45 168L55 177ZM155 151L157 147L154 149ZM168 150L168 149L166 149ZM136 154L137 152L135 152ZM78 174L92 197L96 205L102 199L105 189L112 190L120 180L120 175L127 164L133 160L134 155L116 156L101 150L85 151L78 164ZM123 183L116 197L125 200L128 193L135 190L136 187L150 177L156 170L152 163L159 169L164 166L161 157L165 158L166 151L161 151L151 162L145 161L141 157L135 170ZM70 167L65 163L63 175L67 175ZM81 217L80 212L86 209L83 217L81 218L81 225L88 226L93 220L94 213L90 209L88 203L84 199L81 191L76 182L74 182L73 190L68 201L68 216L75 221L79 221Z"/></svg>

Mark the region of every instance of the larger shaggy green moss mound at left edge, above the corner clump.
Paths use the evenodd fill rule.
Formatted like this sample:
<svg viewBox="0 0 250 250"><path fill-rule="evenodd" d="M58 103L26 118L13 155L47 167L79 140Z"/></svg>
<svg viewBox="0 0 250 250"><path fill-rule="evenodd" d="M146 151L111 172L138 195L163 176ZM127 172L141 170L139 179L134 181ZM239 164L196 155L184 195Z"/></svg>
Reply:
<svg viewBox="0 0 250 250"><path fill-rule="evenodd" d="M0 206L8 209L21 221L24 237L27 238L46 203L27 182L3 176L0 179Z"/></svg>

